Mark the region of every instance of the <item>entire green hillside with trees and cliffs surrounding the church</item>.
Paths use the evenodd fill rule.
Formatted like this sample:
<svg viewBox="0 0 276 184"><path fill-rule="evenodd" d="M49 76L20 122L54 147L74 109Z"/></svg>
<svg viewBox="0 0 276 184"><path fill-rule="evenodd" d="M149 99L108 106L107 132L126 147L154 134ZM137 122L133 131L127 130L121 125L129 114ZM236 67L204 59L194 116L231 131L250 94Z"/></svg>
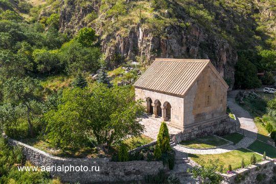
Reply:
<svg viewBox="0 0 276 184"><path fill-rule="evenodd" d="M137 135L143 128L131 119L141 102L133 103L131 85L110 87L133 83L156 57L209 58L231 87L273 85L275 13L274 0L0 0L1 129L57 147L90 142L86 135L104 145ZM107 105L121 108L101 114ZM96 107L102 116L88 116ZM128 131L110 139L109 124ZM79 132L60 140L56 126Z"/></svg>

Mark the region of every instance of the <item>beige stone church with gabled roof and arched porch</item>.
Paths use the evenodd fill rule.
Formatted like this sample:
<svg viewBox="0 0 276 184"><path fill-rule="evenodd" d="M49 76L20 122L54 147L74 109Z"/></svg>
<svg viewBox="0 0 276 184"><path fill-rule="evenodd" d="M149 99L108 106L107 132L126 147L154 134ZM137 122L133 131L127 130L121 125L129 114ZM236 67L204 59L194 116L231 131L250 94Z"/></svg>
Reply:
<svg viewBox="0 0 276 184"><path fill-rule="evenodd" d="M198 132L200 127L201 133L212 132L209 129L214 122L217 125L213 129L217 129L220 122L229 119L228 85L210 60L155 59L134 87L136 99L145 101L149 115L162 118L181 131ZM198 135L192 137L195 136Z"/></svg>

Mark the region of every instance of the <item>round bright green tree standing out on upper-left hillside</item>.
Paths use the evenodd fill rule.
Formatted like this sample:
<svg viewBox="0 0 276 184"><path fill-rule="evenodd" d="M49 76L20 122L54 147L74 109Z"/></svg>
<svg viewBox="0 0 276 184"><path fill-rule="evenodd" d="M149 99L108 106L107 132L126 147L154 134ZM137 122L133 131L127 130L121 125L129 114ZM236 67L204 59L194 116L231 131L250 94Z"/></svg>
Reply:
<svg viewBox="0 0 276 184"><path fill-rule="evenodd" d="M96 31L92 28L82 28L74 39L83 47L93 47L97 41Z"/></svg>

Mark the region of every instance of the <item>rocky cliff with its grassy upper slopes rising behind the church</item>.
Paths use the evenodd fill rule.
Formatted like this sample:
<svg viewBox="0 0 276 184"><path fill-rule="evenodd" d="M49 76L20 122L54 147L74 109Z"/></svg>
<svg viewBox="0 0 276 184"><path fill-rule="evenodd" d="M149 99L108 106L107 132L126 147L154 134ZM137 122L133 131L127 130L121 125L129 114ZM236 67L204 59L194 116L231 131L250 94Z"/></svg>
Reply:
<svg viewBox="0 0 276 184"><path fill-rule="evenodd" d="M60 31L74 34L82 27L95 28L106 61L109 63L114 63L114 60L118 58L139 60L145 65L150 64L156 57L211 59L221 76L231 87L233 86L238 48L233 44L235 36L231 35L233 34L232 30L236 31L235 33L238 35L236 37L240 39L241 44L239 43L239 45L242 48L242 39L245 34L250 32L247 30L256 27L255 23L251 23L252 18L250 17L257 11L255 4L249 4L247 9L245 8L250 13L242 14L235 9L236 5L232 5L234 8L225 8L226 5L215 6L215 3L212 4L208 1L197 1L197 9L189 11L187 11L187 7L190 7L189 4L182 4L183 1L172 1L173 3L167 6L165 11L162 9L151 10L148 7L151 7L152 3L142 1L144 6L142 12L145 16L141 17L141 8L140 15L139 10L135 9L135 7L141 7L139 4L141 1L118 1L123 2L122 6L127 11L126 14L123 14L120 12L123 9L119 9L113 16L109 14L116 10L110 10L117 3L108 4L106 2L100 0L61 1ZM193 1L187 2L194 3ZM244 13L244 11L242 12ZM89 20L91 13L97 14L97 17ZM196 17L200 13L203 16ZM140 18L137 18L139 16ZM211 17L210 23L206 22L210 18L205 21L206 17ZM157 28L158 22L155 27L151 27L151 22L147 22L148 19L160 19L163 23L170 23L164 24L156 34L156 29L159 29ZM195 21L196 19L197 21ZM251 22L247 24L246 21ZM205 23L206 26L204 26ZM239 25L238 28L237 25ZM225 36L223 29L228 31L228 37ZM234 41L231 42L231 39ZM251 45L257 44L252 41ZM114 67L114 65L111 66Z"/></svg>

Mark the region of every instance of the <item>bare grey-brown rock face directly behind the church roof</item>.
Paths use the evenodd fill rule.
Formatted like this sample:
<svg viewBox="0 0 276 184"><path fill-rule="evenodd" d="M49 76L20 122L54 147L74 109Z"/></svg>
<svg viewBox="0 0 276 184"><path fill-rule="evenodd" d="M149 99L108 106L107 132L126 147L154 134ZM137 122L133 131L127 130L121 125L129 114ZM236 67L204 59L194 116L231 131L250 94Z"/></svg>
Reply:
<svg viewBox="0 0 276 184"><path fill-rule="evenodd" d="M233 85L236 50L226 40L206 33L197 25L191 25L189 30L168 27L166 37L161 38L137 25L126 37L115 35L116 42L112 46L109 45L110 36L102 39L102 47L107 59L113 59L116 53L130 60L135 60L136 55L147 61L155 57L211 59L220 75L231 80Z"/></svg>

